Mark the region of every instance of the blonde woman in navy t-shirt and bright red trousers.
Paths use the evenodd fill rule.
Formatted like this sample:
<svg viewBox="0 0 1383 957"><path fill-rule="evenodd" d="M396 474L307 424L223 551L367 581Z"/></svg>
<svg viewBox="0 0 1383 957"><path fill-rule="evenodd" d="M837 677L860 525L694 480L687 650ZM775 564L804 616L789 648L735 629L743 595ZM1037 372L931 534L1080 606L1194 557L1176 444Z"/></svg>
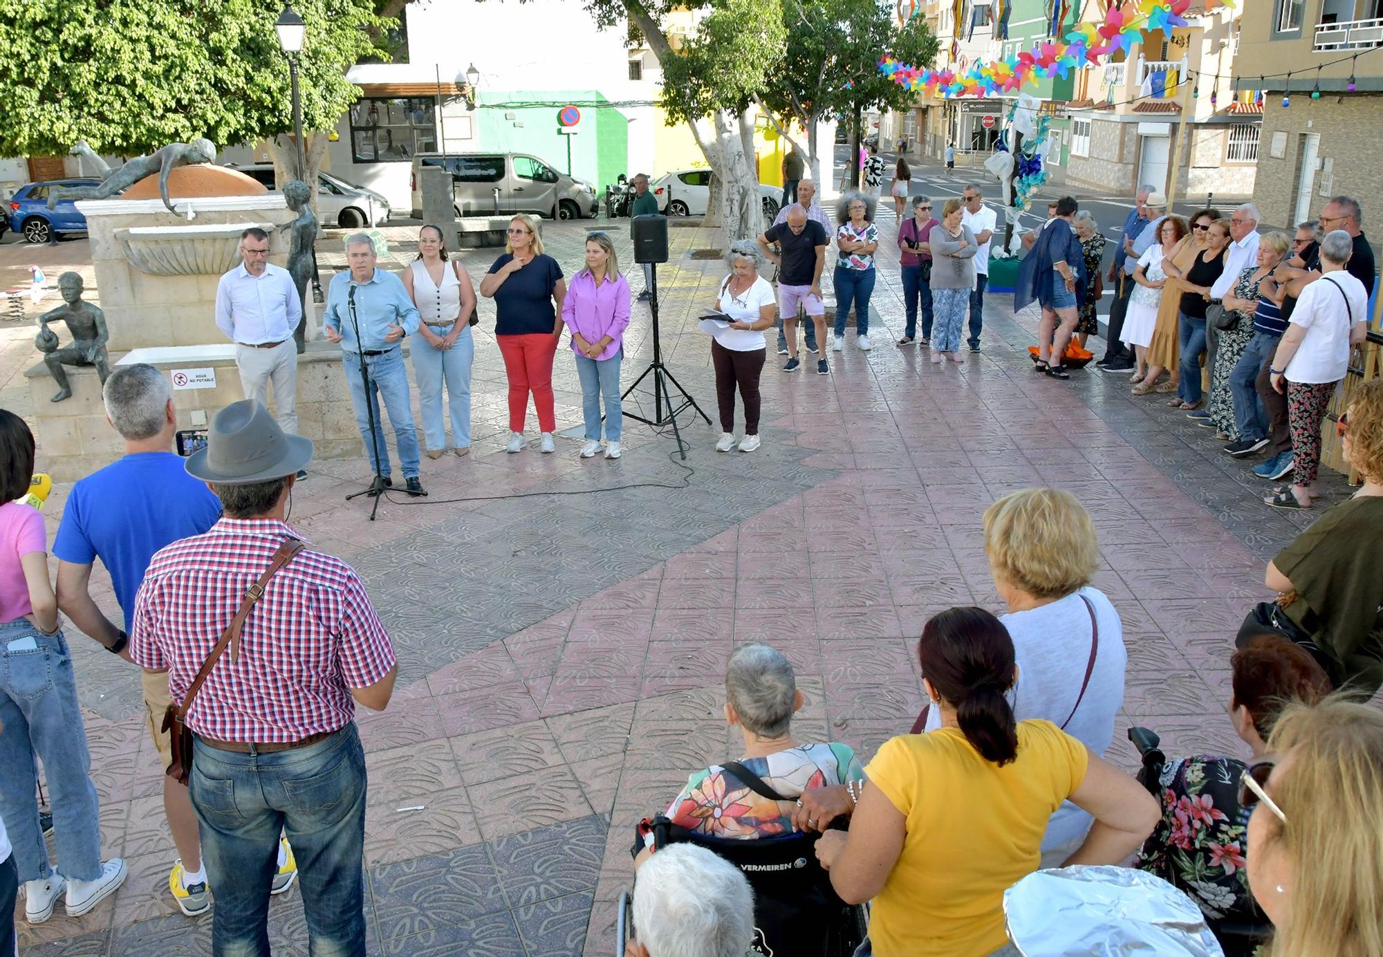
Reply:
<svg viewBox="0 0 1383 957"><path fill-rule="evenodd" d="M509 220L505 254L480 281L480 295L495 300L495 340L509 375L509 451L521 452L528 393L538 409L542 451L552 452L557 426L552 397L552 358L561 339L561 300L567 282L561 267L542 252L538 224L527 213ZM556 301L556 306L553 306Z"/></svg>

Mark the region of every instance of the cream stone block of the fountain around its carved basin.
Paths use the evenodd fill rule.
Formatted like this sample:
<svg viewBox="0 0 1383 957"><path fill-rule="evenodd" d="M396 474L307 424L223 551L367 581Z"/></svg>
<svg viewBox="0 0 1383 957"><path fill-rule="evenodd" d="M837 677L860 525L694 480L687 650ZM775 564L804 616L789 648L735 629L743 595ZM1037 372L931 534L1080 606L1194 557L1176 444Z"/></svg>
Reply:
<svg viewBox="0 0 1383 957"><path fill-rule="evenodd" d="M195 219L188 220L191 205ZM272 224L293 219L279 195L178 199L174 216L159 201L84 201L95 285L111 332L112 353L159 346L201 346L225 340L216 328L216 275L151 275L126 259L115 232L131 227ZM270 238L275 266L288 264L288 234Z"/></svg>

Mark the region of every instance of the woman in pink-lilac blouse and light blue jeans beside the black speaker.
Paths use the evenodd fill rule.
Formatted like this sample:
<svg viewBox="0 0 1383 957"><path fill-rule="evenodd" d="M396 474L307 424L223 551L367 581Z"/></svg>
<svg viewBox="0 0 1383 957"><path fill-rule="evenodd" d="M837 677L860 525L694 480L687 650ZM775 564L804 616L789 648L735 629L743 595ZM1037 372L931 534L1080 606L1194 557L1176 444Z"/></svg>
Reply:
<svg viewBox="0 0 1383 957"><path fill-rule="evenodd" d="M586 419L586 444L581 458L600 452L600 397L606 407L606 458L620 458L620 360L624 329L629 325L629 284L620 275L614 243L604 232L586 236L586 268L571 278L561 303L561 321L571 332L581 379L581 409Z"/></svg>

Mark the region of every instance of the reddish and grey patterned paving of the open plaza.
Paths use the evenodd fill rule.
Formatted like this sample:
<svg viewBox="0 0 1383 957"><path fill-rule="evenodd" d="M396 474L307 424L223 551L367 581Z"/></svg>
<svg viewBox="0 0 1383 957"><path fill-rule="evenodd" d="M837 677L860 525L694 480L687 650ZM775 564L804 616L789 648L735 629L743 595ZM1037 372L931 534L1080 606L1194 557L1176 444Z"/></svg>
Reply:
<svg viewBox="0 0 1383 957"><path fill-rule="evenodd" d="M545 231L568 271L589 225ZM609 228L640 288L626 224ZM885 241L893 228L884 213ZM671 230L658 275L664 354L712 418L694 317L723 268L689 253L714 243L707 230ZM494 254L463 254L474 279ZM343 266L329 250L321 259ZM387 257L407 259L398 243ZM903 325L896 249L885 245L880 266L871 322L887 328L875 349L857 350L851 332L844 353L827 354L827 378L786 375L770 354L765 443L752 455L716 454L719 429L690 411L679 419L685 465L671 430L629 419L617 462L582 461L570 438L556 455L506 455L505 380L483 300L472 455L423 459L430 496L391 496L376 523L366 499L342 501L365 484L364 459L315 463L295 490L290 524L361 573L401 660L390 707L358 714L371 954L609 954L614 902L632 884L633 823L692 770L737 752L721 714L730 651L781 649L808 698L798 737L869 758L921 705L922 622L956 603L1000 610L981 514L1032 484L1079 495L1099 530L1095 584L1129 647L1109 756L1134 765L1131 723L1162 733L1173 754L1241 752L1224 716L1232 636L1265 596L1264 559L1310 516L1260 505L1245 463L1130 397L1117 376L1034 376L1025 350L1036 317L1012 315L1005 296L987 297L983 353L961 365L892 346ZM651 355L644 304L625 354L631 382ZM566 351L555 387L559 429L578 426ZM1326 479L1329 498L1347 494ZM44 512L50 535L65 492ZM126 856L130 878L80 920L21 917L22 953L207 953L210 921L184 918L167 895L174 851L137 675L69 638L104 851ZM307 953L296 891L274 900L270 929L275 954Z"/></svg>

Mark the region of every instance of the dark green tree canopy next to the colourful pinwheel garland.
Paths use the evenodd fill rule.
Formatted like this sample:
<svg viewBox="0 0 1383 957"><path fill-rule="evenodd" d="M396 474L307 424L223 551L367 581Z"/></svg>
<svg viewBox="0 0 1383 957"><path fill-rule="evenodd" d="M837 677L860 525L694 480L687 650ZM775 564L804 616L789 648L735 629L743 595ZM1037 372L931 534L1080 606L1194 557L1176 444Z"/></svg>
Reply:
<svg viewBox="0 0 1383 957"><path fill-rule="evenodd" d="M904 64L929 64L939 44L925 17L900 28L893 6L877 0L783 0L783 59L766 72L755 102L798 149L792 127L806 133L802 152L819 180L817 124L841 115L857 122L873 108L910 108L917 94L882 76L878 59L891 53Z"/></svg>

